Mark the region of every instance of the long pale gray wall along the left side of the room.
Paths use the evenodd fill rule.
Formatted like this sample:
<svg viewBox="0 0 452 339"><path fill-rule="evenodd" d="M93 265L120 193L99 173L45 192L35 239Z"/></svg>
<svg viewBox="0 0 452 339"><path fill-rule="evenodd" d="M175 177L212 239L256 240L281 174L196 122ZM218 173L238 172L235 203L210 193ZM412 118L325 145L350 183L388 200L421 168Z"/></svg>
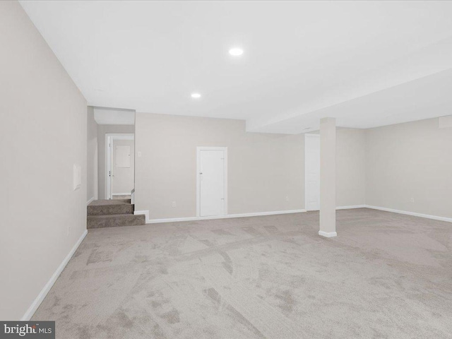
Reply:
<svg viewBox="0 0 452 339"><path fill-rule="evenodd" d="M0 46L0 319L18 320L86 230L87 107L16 1Z"/></svg>

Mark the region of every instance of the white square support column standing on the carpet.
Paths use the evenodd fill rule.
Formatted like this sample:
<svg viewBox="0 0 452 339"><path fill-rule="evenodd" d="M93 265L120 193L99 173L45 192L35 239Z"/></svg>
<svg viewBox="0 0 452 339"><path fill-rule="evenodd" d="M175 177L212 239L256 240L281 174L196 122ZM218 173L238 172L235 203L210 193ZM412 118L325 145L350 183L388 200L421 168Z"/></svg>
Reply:
<svg viewBox="0 0 452 339"><path fill-rule="evenodd" d="M336 233L336 120L320 120L320 230L323 237Z"/></svg>

